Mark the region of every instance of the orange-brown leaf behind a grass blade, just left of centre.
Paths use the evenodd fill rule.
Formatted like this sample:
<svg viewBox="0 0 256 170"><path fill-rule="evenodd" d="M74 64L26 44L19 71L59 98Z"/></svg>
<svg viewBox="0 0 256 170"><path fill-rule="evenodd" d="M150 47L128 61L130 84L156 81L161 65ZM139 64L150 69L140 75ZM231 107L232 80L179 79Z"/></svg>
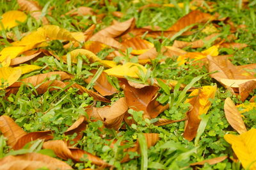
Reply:
<svg viewBox="0 0 256 170"><path fill-rule="evenodd" d="M93 74L95 74L97 72L97 70L91 70L90 72L92 72ZM100 95L102 96L110 96L113 95L115 93L117 93L116 88L114 88L108 81L107 79L108 74L105 72L102 72L99 76L99 78L97 79L97 81L94 82L93 88L95 90L97 90ZM86 83L89 83L90 81L92 81L93 76L88 77L87 79L85 79L84 81Z"/></svg>

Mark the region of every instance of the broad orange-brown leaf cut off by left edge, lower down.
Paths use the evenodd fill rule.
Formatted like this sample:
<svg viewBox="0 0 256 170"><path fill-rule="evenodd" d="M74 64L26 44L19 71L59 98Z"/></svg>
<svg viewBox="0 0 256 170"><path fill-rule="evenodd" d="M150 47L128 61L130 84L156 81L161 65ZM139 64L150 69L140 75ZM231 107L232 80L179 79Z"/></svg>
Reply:
<svg viewBox="0 0 256 170"><path fill-rule="evenodd" d="M20 137L26 135L26 132L6 115L0 117L0 130L6 137L8 146L12 147L15 146Z"/></svg>

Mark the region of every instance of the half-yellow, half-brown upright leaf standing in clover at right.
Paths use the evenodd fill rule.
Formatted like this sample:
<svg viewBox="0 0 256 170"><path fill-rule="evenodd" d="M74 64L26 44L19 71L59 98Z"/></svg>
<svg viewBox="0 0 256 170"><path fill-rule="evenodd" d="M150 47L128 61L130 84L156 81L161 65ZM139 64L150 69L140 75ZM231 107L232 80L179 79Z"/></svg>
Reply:
<svg viewBox="0 0 256 170"><path fill-rule="evenodd" d="M193 90L189 98L185 101L192 105L192 109L187 113L188 121L186 121L184 137L188 141L192 141L196 136L198 126L200 124L201 114L206 114L211 107L209 98L214 98L217 86L203 86L202 89Z"/></svg>

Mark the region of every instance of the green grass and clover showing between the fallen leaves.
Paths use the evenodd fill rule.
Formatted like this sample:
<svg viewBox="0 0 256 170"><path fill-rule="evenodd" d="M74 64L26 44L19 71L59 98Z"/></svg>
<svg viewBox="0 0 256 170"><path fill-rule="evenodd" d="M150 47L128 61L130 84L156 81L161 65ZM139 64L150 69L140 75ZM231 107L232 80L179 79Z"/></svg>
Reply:
<svg viewBox="0 0 256 170"><path fill-rule="evenodd" d="M107 1L106 1L107 2ZM179 1L150 1L152 3L178 3ZM245 24L245 29L238 29L235 33L237 40L235 42L246 43L248 47L242 50L227 50L220 49L221 54L233 54L231 57L232 63L235 65L246 65L251 63L256 63L256 1L250 1L248 8L239 8L239 1L214 1L214 12L220 13L221 17L230 17L230 20L236 25ZM106 13L106 17L102 19L102 22L97 24L96 31L109 26L113 20L124 21L135 17L136 26L159 26L163 29L167 29L172 26L177 19L186 15L188 13L188 8L170 8L170 7L151 7L145 8L139 12L139 8L145 4L147 1L140 1L140 3L132 3L132 1L125 0L114 0L116 6L110 3L106 6L100 6L98 1L69 1L66 3L65 0L60 1L45 1L38 0L40 6L44 6L44 15L51 22L51 24L68 29L68 31L85 31L93 23L95 23L95 17L92 16L63 16L62 14L77 8L79 6L92 7L94 10L99 10L99 13ZM16 1L0 1L0 15L8 10L17 10L19 7ZM49 11L49 8L54 6L54 10ZM112 15L112 12L120 11L125 15L121 19ZM204 9L202 9L204 11ZM51 12L51 15L48 13ZM212 14L214 13L212 12ZM221 38L227 38L230 35L230 27L223 21L217 23L219 26L218 30L221 33ZM210 24L211 25L211 24ZM14 27L10 31L13 32L18 38L20 33L25 33L28 31L36 30L38 27L42 26L42 23L36 21L29 16L28 21L20 26ZM198 28L200 29L200 27ZM5 31L0 31L0 36L5 37ZM192 41L193 39L198 40L207 36L205 33L198 32L196 35L180 36L177 35L175 40ZM172 45L173 39L170 38L148 38L148 40L159 47L164 45ZM159 43L161 40L163 43ZM0 50L6 47L1 45L1 42L6 43L6 39L0 38ZM7 43L6 43L7 44ZM8 44L7 44L8 45ZM209 44L209 46L212 44ZM200 49L186 49L187 51L201 51L207 47L202 47ZM51 49L58 54L58 56L67 54L71 49L63 49L62 43L59 41L52 41L51 45L46 47L46 49ZM100 52L98 56L106 56L111 50L104 50ZM161 58L161 55L159 56ZM68 59L68 55L67 55ZM118 58L116 58L118 60ZM81 60L82 61L82 60ZM71 61L68 60L67 64L63 61L58 61L52 56L44 56L39 58L37 61L30 61L31 64L47 66L47 69L42 69L40 71L35 71L23 75L23 77L29 77L31 75L36 75L38 73L51 72L57 68L57 70L65 71L75 75L72 81L78 82L84 87L91 88L92 84L85 84L83 79L88 77L89 71L92 69L99 70L102 72L102 68L99 63L93 63L91 65L82 65L80 60L78 60L77 65L72 65ZM207 68L198 68L191 65L178 66L175 59L166 59L166 61L158 63L157 59L152 61L151 65L146 65L147 68L152 68L148 75L141 75L140 82L146 82L147 78L157 77L161 79L174 79L184 84L189 84L194 87L200 87L205 85L218 84L218 82L211 79L205 74ZM178 69L179 68L179 69ZM204 75L204 76L202 76ZM197 77L198 76L198 77ZM196 78L195 78L196 77ZM97 76L93 79L97 79ZM53 77L53 79L58 79L58 77ZM111 79L111 83L117 84L115 78ZM195 80L196 79L196 80ZM93 82L92 82L93 83ZM161 84L160 84L161 85ZM119 87L120 88L120 87ZM167 89L166 89L167 88ZM162 84L159 93L161 95L158 97L158 101L161 104L169 103L172 107L167 109L159 118L170 118L171 120L180 120L185 117L185 112L188 111L189 105L183 104L182 102L188 95L186 95L186 90L179 91L179 89L174 89L174 93L169 93L168 87ZM12 117L15 122L22 127L26 132L36 132L40 130L54 130L54 139L65 139L63 132L67 130L74 121L80 115L86 115L84 107L93 104L93 98L89 97L86 93L83 95L77 95L77 89L68 89L68 91L47 91L44 95L35 95L33 93L33 87L21 86L17 95L10 95L8 100L4 97L4 91L0 90L0 115L6 114ZM253 93L255 95L255 93ZM252 94L252 95L253 95ZM111 98L111 102L116 99L123 97L124 93L120 91ZM189 167L190 163L198 162L208 158L220 157L223 155L228 155L228 157L233 157L233 152L223 136L230 132L234 133L233 129L228 125L227 119L225 118L223 104L227 97L231 97L235 102L239 102L235 96L233 96L229 91L226 91L220 84L218 84L218 90L216 92L216 97L211 101L212 106L209 109L207 116L202 118L202 124L200 124L200 135L196 137L196 141L186 141L182 136L184 132L184 122L172 123L170 125L164 125L163 127L156 127L148 120L143 120L141 112L129 111L136 117L137 125L136 127L130 127L127 130L120 130L115 132L115 130L106 129L104 132L99 130L103 123L101 121L95 121L88 123L88 127L84 130L84 136L81 141L79 141L79 148L97 155L98 157L106 160L110 164L113 164L117 169L192 169ZM102 102L96 102L97 107L106 105ZM256 127L256 116L255 112L253 114L245 114L246 117L246 127L248 129ZM150 120L154 121L154 120ZM152 123L152 122L151 122ZM159 142L147 150L145 145L145 139L141 132L153 132L160 134ZM106 137L102 139L100 135L106 134ZM72 139L74 136L68 136ZM120 146L115 145L114 148L107 147L111 141L109 139L118 139L120 141L126 140L127 144ZM129 148L132 146L134 141L139 139L141 153L130 153L130 157L134 158L129 162L121 164L120 161L124 157L124 148ZM37 147L40 144L35 144L35 150L38 151ZM25 150L25 149L24 149ZM28 150L28 148L26 149ZM4 157L8 153L8 146L6 146L3 136L0 137L0 157ZM140 155L140 157L137 157ZM86 167L95 168L97 166L91 164L90 162L84 163L74 163L71 160L67 161L75 169L83 169ZM209 165L205 164L202 169L242 169L239 163L232 163L231 160L224 160L218 164Z"/></svg>

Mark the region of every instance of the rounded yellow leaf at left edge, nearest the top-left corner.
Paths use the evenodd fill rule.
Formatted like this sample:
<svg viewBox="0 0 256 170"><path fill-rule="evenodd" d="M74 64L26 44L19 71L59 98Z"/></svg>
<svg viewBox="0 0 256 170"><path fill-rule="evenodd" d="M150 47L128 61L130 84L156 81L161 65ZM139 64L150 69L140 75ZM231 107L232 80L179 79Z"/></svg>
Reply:
<svg viewBox="0 0 256 170"><path fill-rule="evenodd" d="M8 11L4 13L2 16L1 22L3 27L0 26L0 31L2 29L10 29L12 27L18 26L19 22L24 22L27 19L27 15L24 12L20 11Z"/></svg>

